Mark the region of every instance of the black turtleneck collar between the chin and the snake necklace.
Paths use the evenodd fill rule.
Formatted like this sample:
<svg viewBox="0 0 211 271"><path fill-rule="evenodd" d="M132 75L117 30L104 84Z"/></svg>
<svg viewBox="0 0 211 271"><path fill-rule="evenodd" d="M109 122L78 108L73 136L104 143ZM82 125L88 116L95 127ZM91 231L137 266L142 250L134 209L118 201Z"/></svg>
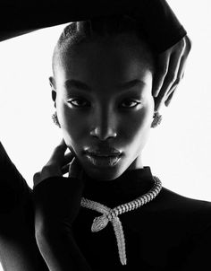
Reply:
<svg viewBox="0 0 211 271"><path fill-rule="evenodd" d="M86 173L83 197L114 208L127 203L150 190L155 181L149 167L136 170L125 170L113 180L91 179Z"/></svg>

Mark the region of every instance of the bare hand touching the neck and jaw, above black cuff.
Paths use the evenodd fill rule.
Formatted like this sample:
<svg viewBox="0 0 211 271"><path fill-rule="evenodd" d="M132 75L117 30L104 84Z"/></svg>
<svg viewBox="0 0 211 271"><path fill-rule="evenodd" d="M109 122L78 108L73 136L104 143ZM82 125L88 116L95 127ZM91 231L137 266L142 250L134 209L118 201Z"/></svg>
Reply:
<svg viewBox="0 0 211 271"><path fill-rule="evenodd" d="M49 177L60 176L69 172L68 177L81 178L82 168L78 159L73 155L73 153L65 153L67 149L67 145L64 140L61 141L55 147L54 152L52 153L46 165L42 168L42 170L36 172L33 176L34 188Z"/></svg>

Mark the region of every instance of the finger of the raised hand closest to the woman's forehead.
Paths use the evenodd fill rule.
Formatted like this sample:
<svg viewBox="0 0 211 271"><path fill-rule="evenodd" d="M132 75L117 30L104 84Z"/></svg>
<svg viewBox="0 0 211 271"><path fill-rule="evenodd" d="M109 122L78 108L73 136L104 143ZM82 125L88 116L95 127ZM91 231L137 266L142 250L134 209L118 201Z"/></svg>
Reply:
<svg viewBox="0 0 211 271"><path fill-rule="evenodd" d="M156 74L154 75L152 89L152 94L154 97L157 97L165 81L165 75L167 74L169 66L169 59L169 50L165 51L157 57Z"/></svg>

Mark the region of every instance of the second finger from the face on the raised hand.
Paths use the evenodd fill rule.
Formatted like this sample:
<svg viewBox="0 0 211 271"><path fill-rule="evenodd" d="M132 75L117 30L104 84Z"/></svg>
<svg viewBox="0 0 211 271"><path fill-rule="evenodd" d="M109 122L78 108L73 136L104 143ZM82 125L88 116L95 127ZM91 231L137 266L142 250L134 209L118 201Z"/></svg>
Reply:
<svg viewBox="0 0 211 271"><path fill-rule="evenodd" d="M165 95L172 88L173 83L175 83L177 74L180 69L180 64L181 64L181 57L178 57L178 53L174 53L170 59L169 70L165 76L165 82L163 83L163 86L157 96L157 104L156 104L157 110L161 107L161 105L163 104L165 100Z"/></svg>

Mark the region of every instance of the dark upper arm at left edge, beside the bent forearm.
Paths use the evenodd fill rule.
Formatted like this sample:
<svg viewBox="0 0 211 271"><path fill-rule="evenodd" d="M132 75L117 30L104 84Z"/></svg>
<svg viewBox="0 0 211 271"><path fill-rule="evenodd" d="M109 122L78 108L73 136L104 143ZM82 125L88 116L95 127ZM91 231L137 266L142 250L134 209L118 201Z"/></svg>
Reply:
<svg viewBox="0 0 211 271"><path fill-rule="evenodd" d="M0 142L0 260L5 270L48 271L34 236L31 189Z"/></svg>

